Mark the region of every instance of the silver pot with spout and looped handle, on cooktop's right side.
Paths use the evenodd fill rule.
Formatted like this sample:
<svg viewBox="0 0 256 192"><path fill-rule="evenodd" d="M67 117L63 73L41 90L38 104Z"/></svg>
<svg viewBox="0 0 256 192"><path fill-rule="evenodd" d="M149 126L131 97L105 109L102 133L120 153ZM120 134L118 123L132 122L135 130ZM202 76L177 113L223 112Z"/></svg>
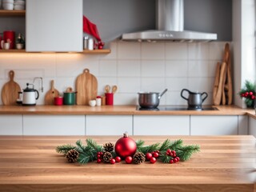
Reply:
<svg viewBox="0 0 256 192"><path fill-rule="evenodd" d="M184 91L187 91L189 93L188 98L185 98L183 96ZM205 95L205 96L203 97L203 95ZM190 90L183 89L181 92L181 96L182 96L182 98L187 100L189 108L202 108L202 102L204 102L206 100L206 98L208 97L208 94L206 92L194 93L194 92L191 92Z"/></svg>

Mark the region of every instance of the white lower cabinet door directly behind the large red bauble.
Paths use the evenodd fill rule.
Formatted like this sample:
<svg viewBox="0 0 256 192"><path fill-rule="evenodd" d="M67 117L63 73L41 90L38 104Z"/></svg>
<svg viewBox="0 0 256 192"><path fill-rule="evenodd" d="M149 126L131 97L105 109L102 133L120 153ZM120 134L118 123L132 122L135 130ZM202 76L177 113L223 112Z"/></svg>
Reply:
<svg viewBox="0 0 256 192"><path fill-rule="evenodd" d="M86 115L86 135L131 135L132 126L132 115Z"/></svg>

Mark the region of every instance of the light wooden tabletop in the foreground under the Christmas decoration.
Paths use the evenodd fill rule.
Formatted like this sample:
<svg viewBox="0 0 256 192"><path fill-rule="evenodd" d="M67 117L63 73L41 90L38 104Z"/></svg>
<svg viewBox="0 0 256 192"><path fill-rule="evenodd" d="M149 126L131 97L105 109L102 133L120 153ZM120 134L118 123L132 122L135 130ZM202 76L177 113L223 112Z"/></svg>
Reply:
<svg viewBox="0 0 256 192"><path fill-rule="evenodd" d="M90 137L99 144L118 136ZM182 138L201 152L187 162L125 162L84 166L66 162L55 147L86 137L0 137L0 191L255 191L256 140L239 136L133 136L148 144Z"/></svg>

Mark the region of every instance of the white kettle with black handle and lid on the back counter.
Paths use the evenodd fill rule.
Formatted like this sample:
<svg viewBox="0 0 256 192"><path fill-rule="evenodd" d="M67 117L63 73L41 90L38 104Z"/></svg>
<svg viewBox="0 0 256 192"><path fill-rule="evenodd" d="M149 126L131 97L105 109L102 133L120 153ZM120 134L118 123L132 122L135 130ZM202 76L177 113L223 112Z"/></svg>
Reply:
<svg viewBox="0 0 256 192"><path fill-rule="evenodd" d="M32 88L29 88L32 86ZM34 85L26 83L26 89L23 90L22 106L35 106L39 98L38 90L34 90Z"/></svg>

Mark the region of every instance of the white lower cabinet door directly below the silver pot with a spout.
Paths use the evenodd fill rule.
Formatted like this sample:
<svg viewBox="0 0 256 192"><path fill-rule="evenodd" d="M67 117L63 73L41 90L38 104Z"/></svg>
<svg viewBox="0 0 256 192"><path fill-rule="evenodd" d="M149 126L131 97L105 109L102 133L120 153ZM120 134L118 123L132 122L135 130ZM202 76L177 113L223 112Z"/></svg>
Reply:
<svg viewBox="0 0 256 192"><path fill-rule="evenodd" d="M191 116L191 135L238 134L238 116Z"/></svg>

